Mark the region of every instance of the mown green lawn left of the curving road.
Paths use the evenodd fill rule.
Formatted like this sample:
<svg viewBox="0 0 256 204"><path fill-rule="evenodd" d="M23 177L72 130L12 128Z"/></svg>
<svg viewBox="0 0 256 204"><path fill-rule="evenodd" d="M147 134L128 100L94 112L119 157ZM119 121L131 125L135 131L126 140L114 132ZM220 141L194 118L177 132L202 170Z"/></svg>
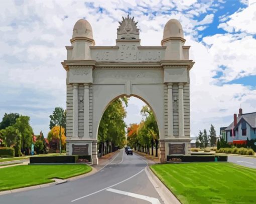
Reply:
<svg viewBox="0 0 256 204"><path fill-rule="evenodd" d="M53 182L91 171L85 164L20 165L0 169L0 191Z"/></svg>

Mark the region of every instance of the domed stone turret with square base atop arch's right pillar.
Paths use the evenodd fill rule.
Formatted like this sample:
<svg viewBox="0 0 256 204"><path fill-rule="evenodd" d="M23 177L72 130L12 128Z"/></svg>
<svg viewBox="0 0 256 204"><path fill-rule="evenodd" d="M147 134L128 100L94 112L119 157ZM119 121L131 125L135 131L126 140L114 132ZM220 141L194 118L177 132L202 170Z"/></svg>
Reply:
<svg viewBox="0 0 256 204"><path fill-rule="evenodd" d="M190 46L185 43L183 29L180 22L176 19L169 20L164 28L164 36L161 42L166 46L165 60L188 60L188 50Z"/></svg>

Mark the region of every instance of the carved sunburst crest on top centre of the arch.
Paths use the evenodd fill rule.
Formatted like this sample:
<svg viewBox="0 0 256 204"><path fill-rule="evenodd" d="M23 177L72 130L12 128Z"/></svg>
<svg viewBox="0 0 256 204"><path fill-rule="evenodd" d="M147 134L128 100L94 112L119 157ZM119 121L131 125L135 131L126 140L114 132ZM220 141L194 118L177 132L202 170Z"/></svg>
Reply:
<svg viewBox="0 0 256 204"><path fill-rule="evenodd" d="M139 30L137 28L138 22L134 21L134 17L130 18L127 15L127 18L122 17L122 22L118 22L120 26L117 29L117 35L121 35L120 39L138 39Z"/></svg>

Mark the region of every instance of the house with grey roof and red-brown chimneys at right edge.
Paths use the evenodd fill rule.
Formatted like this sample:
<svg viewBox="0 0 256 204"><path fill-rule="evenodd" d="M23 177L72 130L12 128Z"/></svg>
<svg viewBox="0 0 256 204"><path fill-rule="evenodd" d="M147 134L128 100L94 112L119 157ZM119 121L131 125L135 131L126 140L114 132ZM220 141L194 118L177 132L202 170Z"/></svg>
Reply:
<svg viewBox="0 0 256 204"><path fill-rule="evenodd" d="M256 112L242 113L239 108L238 117L234 114L233 122L225 128L226 140L229 144L246 143L246 140L256 139Z"/></svg>

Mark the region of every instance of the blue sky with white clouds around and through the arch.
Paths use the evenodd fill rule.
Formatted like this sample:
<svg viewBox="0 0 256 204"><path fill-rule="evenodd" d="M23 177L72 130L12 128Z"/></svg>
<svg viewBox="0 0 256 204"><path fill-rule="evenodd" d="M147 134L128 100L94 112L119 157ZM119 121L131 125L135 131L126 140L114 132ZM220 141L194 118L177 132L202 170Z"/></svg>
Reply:
<svg viewBox="0 0 256 204"><path fill-rule="evenodd" d="M49 115L65 108L66 59L75 22L88 20L97 46L115 45L129 13L141 44L160 46L170 19L181 22L191 46L191 134L229 125L233 113L256 111L256 1L0 1L0 118L31 117L47 135ZM126 123L140 122L144 103L132 98ZM217 131L218 132L218 131Z"/></svg>

